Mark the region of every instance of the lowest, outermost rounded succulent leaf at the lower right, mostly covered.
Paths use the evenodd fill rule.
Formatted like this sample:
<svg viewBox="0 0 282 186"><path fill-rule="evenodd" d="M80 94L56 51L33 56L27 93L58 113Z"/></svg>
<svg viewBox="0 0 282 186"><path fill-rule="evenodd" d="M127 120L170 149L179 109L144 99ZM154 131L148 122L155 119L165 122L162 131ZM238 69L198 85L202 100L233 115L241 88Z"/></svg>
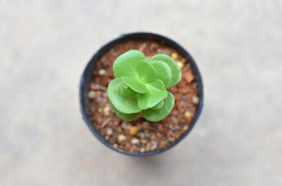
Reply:
<svg viewBox="0 0 282 186"><path fill-rule="evenodd" d="M142 115L148 121L160 121L161 119L164 119L165 117L168 116L168 114L171 112L171 109L173 109L173 106L174 106L173 95L170 92L168 92L167 98L164 99L163 107L157 110L145 109L142 111Z"/></svg>

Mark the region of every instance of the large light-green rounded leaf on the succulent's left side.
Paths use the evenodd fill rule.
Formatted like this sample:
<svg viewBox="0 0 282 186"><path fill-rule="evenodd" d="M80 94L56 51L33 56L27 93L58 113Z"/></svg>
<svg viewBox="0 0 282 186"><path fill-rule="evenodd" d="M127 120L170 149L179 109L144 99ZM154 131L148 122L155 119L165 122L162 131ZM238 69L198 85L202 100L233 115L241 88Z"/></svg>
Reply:
<svg viewBox="0 0 282 186"><path fill-rule="evenodd" d="M122 88L126 86L120 78L116 78L109 83L108 95L114 107L125 114L140 112L137 105L137 93L131 97L123 96Z"/></svg>

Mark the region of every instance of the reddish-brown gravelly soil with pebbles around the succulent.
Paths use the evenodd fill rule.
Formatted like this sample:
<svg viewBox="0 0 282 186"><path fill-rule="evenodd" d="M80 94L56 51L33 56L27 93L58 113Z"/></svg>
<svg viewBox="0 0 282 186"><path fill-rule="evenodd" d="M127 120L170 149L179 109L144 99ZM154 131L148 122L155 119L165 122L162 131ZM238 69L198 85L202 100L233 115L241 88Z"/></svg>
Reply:
<svg viewBox="0 0 282 186"><path fill-rule="evenodd" d="M171 114L161 121L149 122L142 114L134 121L123 121L109 106L106 87L114 79L113 62L119 55L132 49L142 51L148 60L157 53L166 53L182 67L183 78L176 86L168 88L176 103ZM197 81L190 64L173 48L154 41L125 41L111 48L97 61L93 75L88 93L91 121L113 147L139 153L160 150L175 142L190 127L199 101Z"/></svg>

